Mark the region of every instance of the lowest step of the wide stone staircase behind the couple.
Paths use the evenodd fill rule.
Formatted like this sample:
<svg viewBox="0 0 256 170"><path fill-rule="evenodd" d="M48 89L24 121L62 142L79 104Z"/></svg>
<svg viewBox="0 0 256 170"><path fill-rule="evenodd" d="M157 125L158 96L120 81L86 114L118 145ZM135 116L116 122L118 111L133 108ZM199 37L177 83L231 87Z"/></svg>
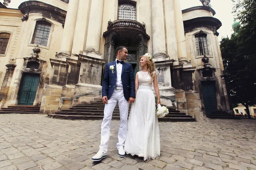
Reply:
<svg viewBox="0 0 256 170"><path fill-rule="evenodd" d="M49 117L59 119L103 119L103 116L83 116L83 115L62 115L62 114L48 114ZM112 119L120 120L119 116L112 116ZM195 122L194 118L158 118L159 121L165 122Z"/></svg>

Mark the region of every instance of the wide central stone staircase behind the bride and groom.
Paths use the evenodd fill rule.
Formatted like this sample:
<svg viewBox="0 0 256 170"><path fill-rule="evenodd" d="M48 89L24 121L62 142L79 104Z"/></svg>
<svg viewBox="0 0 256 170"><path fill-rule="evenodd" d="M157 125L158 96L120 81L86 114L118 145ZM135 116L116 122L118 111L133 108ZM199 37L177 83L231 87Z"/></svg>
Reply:
<svg viewBox="0 0 256 170"><path fill-rule="evenodd" d="M105 104L103 104L102 101L95 101L90 104L76 105L69 110L62 110L60 112L48 114L48 116L59 119L103 119L104 106ZM130 109L131 105L129 106L129 112ZM120 120L118 105L116 105L116 108L113 111L112 119ZM166 117L158 118L158 120L168 122L195 122L195 118L192 116L171 109L169 109L169 114L166 115Z"/></svg>

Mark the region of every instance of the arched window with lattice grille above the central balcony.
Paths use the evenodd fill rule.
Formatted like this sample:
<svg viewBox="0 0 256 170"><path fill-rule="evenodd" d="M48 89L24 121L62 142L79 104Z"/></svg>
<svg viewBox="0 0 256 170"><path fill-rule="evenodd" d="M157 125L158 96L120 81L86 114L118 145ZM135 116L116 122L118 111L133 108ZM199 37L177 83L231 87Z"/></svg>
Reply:
<svg viewBox="0 0 256 170"><path fill-rule="evenodd" d="M118 20L136 21L136 6L131 4L118 5Z"/></svg>

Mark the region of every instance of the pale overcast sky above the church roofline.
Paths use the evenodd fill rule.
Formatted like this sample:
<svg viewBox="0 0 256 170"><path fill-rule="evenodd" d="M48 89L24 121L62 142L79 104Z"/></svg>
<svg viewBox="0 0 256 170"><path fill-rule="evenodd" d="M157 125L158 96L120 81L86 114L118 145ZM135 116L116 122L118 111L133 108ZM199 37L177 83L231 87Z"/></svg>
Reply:
<svg viewBox="0 0 256 170"><path fill-rule="evenodd" d="M3 3L3 0L0 0ZM8 8L18 8L20 3L27 1L27 0L12 0L9 3ZM193 6L202 6L200 0L180 0L180 5L182 9L190 8ZM218 29L220 35L218 36L218 40L221 41L221 37L230 37L232 34L232 24L233 24L233 14L232 14L232 7L233 3L232 0L211 0L212 8L215 10L215 18L218 18L222 26Z"/></svg>

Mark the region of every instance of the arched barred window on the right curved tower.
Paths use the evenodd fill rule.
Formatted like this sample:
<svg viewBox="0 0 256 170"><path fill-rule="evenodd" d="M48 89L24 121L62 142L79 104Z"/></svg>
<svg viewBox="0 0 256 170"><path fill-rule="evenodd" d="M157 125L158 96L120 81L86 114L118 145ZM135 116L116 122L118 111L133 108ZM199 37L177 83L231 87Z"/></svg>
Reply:
<svg viewBox="0 0 256 170"><path fill-rule="evenodd" d="M207 47L207 34L201 33L195 35L195 45L198 56L209 55Z"/></svg>

